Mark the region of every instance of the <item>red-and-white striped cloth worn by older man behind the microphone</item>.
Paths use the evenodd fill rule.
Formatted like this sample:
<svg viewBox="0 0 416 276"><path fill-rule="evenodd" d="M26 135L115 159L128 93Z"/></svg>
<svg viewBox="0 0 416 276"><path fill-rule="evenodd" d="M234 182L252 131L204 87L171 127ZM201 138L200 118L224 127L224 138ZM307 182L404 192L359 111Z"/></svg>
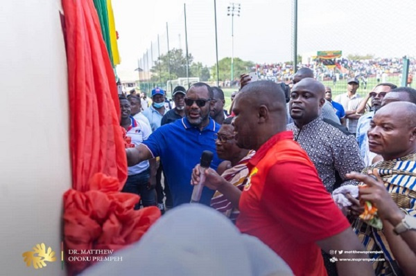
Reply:
<svg viewBox="0 0 416 276"><path fill-rule="evenodd" d="M248 152L247 156L240 160L240 162L226 169L221 176L225 178L226 181L232 183L232 185L238 187L241 191L245 185L245 179L248 176L248 161L254 156L256 151L251 150ZM226 217L231 219L235 224L237 217L239 217L240 211L237 208L233 208L231 202L220 192L216 191L214 196L211 199L211 207L225 214Z"/></svg>

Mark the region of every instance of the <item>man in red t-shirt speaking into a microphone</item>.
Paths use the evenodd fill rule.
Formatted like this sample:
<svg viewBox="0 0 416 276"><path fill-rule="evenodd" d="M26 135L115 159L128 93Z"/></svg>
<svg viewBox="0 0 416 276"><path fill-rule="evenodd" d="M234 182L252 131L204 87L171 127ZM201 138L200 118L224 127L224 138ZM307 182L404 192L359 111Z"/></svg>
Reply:
<svg viewBox="0 0 416 276"><path fill-rule="evenodd" d="M338 275L374 275L360 241L325 190L306 152L286 130L286 102L278 84L252 82L234 100L237 145L255 149L243 192L205 171L205 185L239 208L236 226L258 237L291 266L295 275L327 275L320 248L333 255ZM192 184L199 181L198 166ZM339 254L341 250L341 254ZM342 258L342 259L341 259ZM343 259L361 259L344 261Z"/></svg>

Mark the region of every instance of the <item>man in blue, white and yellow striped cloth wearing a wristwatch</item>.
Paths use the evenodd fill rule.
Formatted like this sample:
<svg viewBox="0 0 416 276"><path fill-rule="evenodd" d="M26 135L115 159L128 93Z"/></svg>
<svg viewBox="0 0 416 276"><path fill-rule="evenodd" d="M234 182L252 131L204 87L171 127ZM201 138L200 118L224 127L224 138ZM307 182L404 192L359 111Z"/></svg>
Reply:
<svg viewBox="0 0 416 276"><path fill-rule="evenodd" d="M398 93L392 91L390 94L397 96ZM383 222L382 230L370 226L363 219L356 219L352 226L365 248L372 251L370 258L375 259L373 268L377 276L415 275L416 256L402 239L406 230L411 229L403 228L400 223L406 215L416 217L416 105L391 102L381 107L374 114L367 134L370 151L380 154L383 161L366 167L363 173L378 175L379 184L385 186L391 199L381 197L380 192L372 199L382 199L390 206L376 205L379 209L377 214ZM349 176L364 180L357 174ZM360 196L370 192L374 192L374 187L360 189ZM364 196L364 199L371 198ZM360 213L360 201L353 199L352 203L352 214L357 214L356 211ZM385 217L383 213L387 209L397 212Z"/></svg>

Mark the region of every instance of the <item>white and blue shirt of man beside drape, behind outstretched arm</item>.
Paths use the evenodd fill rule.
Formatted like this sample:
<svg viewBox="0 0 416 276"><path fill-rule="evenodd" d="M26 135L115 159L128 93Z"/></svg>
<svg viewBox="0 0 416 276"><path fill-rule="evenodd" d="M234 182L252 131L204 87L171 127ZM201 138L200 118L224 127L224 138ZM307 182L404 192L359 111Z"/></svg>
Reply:
<svg viewBox="0 0 416 276"><path fill-rule="evenodd" d="M152 134L152 129L150 129L150 126L146 125L146 123L139 120L135 120L135 118L132 116L130 116L130 121L131 125L127 129L126 135L132 138L132 144L135 144L135 146L137 147L144 140L147 140L147 138L149 138L150 134ZM146 171L148 167L149 161L145 160L137 165L128 167L128 175L132 176L135 174L140 174L141 172Z"/></svg>

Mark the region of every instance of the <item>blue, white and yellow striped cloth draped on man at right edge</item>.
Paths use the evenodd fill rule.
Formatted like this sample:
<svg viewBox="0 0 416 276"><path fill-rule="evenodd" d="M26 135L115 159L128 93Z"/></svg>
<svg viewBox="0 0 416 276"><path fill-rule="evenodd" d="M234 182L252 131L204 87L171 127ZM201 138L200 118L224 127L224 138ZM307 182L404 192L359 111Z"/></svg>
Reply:
<svg viewBox="0 0 416 276"><path fill-rule="evenodd" d="M363 173L367 174L367 170L372 168L377 169L386 189L399 208L406 214L416 217L416 154L380 161L363 169ZM374 261L376 275L401 275L383 232L368 226L361 219L356 219L352 226L368 251L383 251L380 254L370 255L370 258L385 259L385 261Z"/></svg>

